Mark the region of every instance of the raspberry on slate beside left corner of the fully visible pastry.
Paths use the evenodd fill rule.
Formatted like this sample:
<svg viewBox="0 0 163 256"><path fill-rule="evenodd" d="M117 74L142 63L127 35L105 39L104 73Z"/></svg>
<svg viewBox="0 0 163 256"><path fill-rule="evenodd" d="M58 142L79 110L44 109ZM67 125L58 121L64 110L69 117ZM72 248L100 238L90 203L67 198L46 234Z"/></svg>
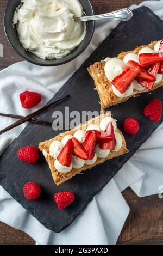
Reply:
<svg viewBox="0 0 163 256"><path fill-rule="evenodd" d="M38 148L34 146L27 146L24 148L20 148L17 151L17 157L21 161L26 163L34 164L39 159Z"/></svg>

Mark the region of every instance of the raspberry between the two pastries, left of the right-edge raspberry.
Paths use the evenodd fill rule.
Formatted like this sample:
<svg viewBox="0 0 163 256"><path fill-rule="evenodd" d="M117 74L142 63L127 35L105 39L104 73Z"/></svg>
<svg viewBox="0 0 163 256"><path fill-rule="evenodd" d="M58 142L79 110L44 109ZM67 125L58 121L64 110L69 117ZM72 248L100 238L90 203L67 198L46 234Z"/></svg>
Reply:
<svg viewBox="0 0 163 256"><path fill-rule="evenodd" d="M139 132L139 121L133 117L129 117L124 120L123 129L129 135L135 135Z"/></svg>

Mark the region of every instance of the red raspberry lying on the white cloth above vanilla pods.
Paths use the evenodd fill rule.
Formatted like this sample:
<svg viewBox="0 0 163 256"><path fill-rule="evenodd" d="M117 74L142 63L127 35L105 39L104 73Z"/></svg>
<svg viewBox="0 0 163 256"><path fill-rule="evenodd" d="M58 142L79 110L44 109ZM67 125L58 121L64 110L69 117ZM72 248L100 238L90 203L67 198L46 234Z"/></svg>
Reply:
<svg viewBox="0 0 163 256"><path fill-rule="evenodd" d="M23 92L20 94L20 101L23 108L32 108L40 103L41 95L35 92Z"/></svg>

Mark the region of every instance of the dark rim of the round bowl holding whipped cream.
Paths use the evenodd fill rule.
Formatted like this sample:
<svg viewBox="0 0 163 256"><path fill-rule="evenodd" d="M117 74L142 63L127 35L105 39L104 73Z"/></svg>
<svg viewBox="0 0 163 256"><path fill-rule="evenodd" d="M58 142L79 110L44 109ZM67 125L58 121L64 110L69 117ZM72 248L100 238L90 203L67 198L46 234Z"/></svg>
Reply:
<svg viewBox="0 0 163 256"><path fill-rule="evenodd" d="M7 40L8 40L8 42L9 42L10 46L12 47L12 49L14 49L14 51L15 51L21 58L23 58L24 60L27 60L27 62L30 62L30 63L35 64L35 65L37 65L37 66L61 66L61 65L64 65L64 64L66 64L66 63L69 63L69 62L71 62L73 59L76 59L77 57L79 57L80 54L82 54L82 53L86 50L87 46L89 46L89 44L90 44L90 42L91 42L91 40L92 40L93 34L94 34L94 32L95 32L95 21L93 21L92 31L91 31L89 40L87 41L87 43L85 44L85 46L82 48L82 50L80 50L80 51L78 52L78 54L77 54L76 56L73 56L73 57L71 57L71 58L68 59L68 60L64 60L64 58L62 58L62 59L63 59L62 62L61 62L61 63L56 63L56 64L43 64L43 63L35 62L35 61L33 61L33 60L28 59L27 57L23 56L23 54L21 54L20 52L18 52L18 51L16 50L16 48L15 48L14 45L12 44L12 41L9 39L9 36L8 36L8 33L7 33L7 28L6 28L6 22L5 22L5 20L6 20L6 18L7 18L7 10L8 10L8 7L9 7L9 4L10 4L11 1L12 1L12 0L8 0L8 3L7 3L7 5L6 5L6 7L5 7L5 10L4 10L4 16L3 16L4 33L5 33L5 36L7 37ZM95 15L95 10L94 10L94 8L93 8L92 3L90 2L90 0L87 0L87 2L89 2L89 4L90 4L90 8L91 8L92 14ZM22 46L22 47L23 47L23 46ZM34 54L34 53L32 53L32 54ZM34 55L35 55L35 54L34 54ZM67 56L68 56L68 55L67 55ZM38 58L39 58L39 57L38 57ZM41 59L41 58L40 58L40 59ZM55 60L55 59L54 59L54 60Z"/></svg>

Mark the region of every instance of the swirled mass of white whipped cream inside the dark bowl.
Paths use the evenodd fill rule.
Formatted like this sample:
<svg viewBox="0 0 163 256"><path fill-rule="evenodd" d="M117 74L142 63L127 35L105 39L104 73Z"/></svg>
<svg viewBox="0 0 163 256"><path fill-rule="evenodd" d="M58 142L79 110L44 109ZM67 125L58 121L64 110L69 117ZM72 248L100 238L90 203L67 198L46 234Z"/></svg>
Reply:
<svg viewBox="0 0 163 256"><path fill-rule="evenodd" d="M14 13L21 44L42 59L67 56L84 39L86 23L79 0L21 0Z"/></svg>

